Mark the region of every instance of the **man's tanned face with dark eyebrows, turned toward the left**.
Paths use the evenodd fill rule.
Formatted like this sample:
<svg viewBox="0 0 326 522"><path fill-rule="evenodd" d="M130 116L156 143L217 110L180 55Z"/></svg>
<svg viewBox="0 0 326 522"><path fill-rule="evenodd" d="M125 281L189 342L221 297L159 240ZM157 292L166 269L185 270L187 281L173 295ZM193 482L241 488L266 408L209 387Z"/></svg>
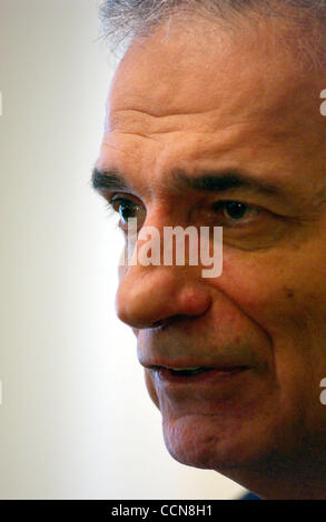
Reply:
<svg viewBox="0 0 326 522"><path fill-rule="evenodd" d="M219 278L139 263L117 295L168 450L218 470L320 451L326 434L326 77L268 31L233 41L205 23L132 42L97 168L124 179L102 191L124 219L224 227ZM180 172L214 181L179 187Z"/></svg>

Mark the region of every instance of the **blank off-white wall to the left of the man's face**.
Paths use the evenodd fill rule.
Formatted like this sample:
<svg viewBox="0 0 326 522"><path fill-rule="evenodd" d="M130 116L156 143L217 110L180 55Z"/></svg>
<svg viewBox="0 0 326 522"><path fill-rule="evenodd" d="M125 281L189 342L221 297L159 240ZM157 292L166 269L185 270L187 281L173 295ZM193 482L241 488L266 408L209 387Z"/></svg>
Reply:
<svg viewBox="0 0 326 522"><path fill-rule="evenodd" d="M89 188L98 34L96 0L0 0L0 498L237 498L169 456L115 318L121 239Z"/></svg>

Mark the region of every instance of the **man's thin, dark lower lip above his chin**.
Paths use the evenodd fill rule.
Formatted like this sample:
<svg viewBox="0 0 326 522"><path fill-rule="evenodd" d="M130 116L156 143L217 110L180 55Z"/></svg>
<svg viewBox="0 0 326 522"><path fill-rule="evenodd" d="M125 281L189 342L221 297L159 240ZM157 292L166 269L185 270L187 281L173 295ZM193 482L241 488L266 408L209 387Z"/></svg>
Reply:
<svg viewBox="0 0 326 522"><path fill-rule="evenodd" d="M204 372L194 375L179 375L177 372L168 370L167 368L160 368L159 370L156 370L155 373L161 382L187 385L228 380L244 373L247 370L249 369L245 367L230 368L228 370L217 370L213 368L211 370L205 370Z"/></svg>

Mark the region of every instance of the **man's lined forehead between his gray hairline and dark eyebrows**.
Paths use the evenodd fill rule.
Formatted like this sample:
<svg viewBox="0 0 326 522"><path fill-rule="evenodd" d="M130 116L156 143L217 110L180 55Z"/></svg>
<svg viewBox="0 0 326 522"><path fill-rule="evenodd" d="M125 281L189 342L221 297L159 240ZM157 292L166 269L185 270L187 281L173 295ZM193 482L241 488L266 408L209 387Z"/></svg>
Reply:
<svg viewBox="0 0 326 522"><path fill-rule="evenodd" d="M167 159L224 154L260 171L295 161L300 178L316 154L326 161L326 77L298 67L279 41L267 27L236 34L195 21L135 40L112 82L100 162L132 173L137 159L139 175L140 162L154 172Z"/></svg>

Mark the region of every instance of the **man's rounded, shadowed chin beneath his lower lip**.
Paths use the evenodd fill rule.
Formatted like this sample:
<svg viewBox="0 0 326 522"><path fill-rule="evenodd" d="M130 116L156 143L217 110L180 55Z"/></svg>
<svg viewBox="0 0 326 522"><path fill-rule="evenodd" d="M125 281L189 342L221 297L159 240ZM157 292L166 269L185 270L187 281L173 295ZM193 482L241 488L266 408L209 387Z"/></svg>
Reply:
<svg viewBox="0 0 326 522"><path fill-rule="evenodd" d="M280 403L268 383L245 384L241 394L230 389L210 395L205 390L204 401L199 393L179 393L177 399L160 393L147 379L149 394L162 415L167 450L175 460L227 474L228 470L283 465L303 451L308 432L295 401Z"/></svg>

